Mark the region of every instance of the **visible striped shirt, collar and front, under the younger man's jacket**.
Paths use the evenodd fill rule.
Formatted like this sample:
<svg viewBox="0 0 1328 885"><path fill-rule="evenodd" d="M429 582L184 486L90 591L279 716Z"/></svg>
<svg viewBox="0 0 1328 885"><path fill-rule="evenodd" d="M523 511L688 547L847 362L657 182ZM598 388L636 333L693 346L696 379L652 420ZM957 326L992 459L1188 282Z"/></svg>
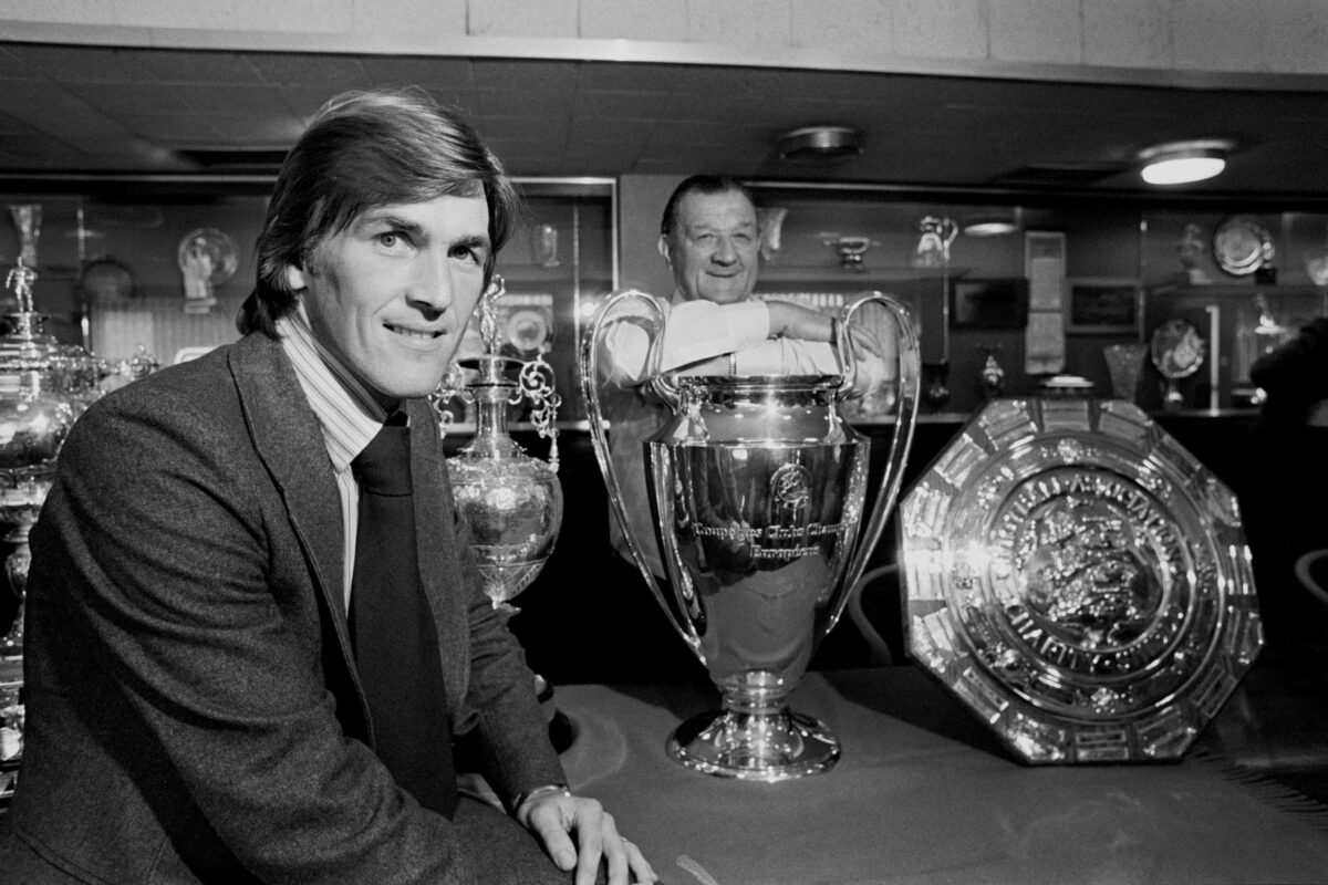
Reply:
<svg viewBox="0 0 1328 885"><path fill-rule="evenodd" d="M378 405L345 364L313 338L309 318L300 303L295 310L276 321L282 348L295 365L304 395L323 427L323 442L336 474L336 488L341 498L343 532L343 593L345 610L351 610L351 580L355 576L355 541L359 528L360 487L351 472L351 460L373 441L386 419L386 410Z"/></svg>

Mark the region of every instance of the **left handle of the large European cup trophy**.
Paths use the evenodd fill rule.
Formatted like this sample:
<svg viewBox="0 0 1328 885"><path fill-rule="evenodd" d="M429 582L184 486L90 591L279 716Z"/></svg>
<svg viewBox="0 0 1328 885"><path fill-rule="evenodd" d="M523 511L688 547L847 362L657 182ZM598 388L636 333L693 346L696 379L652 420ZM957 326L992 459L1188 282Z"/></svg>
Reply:
<svg viewBox="0 0 1328 885"><path fill-rule="evenodd" d="M618 520L619 528L623 529L623 537L627 539L627 547L632 551L632 561L636 563L636 568L640 569L641 577L645 579L645 584L651 588L651 593L655 596L655 601L660 604L664 613L668 616L669 624L677 630L679 636L692 646L697 647L699 640L681 624L672 613L672 606L669 606L668 600L664 597L664 590L659 581L655 580L655 575L651 572L651 567L645 560L645 552L641 549L640 543L632 533L631 521L627 516L627 506L623 503L623 487L618 482L618 476L614 474L614 464L610 458L608 451L608 421L604 419L604 410L599 401L599 332L604 322L604 318L612 313L620 304L625 301L640 301L645 305L651 318L653 320L656 334L651 338L649 350L645 358L645 375L651 381L651 391L657 394L664 399L671 407L677 405L677 387L671 379L663 378L659 366L661 358L660 344L664 338L664 310L660 308L659 303L645 292L640 289L619 289L618 292L610 293L608 297L599 305L595 314L590 320L590 325L586 328L584 337L582 338L582 352L580 352L580 375L582 375L582 393L586 398L586 414L590 418L590 435L595 444L595 460L599 462L599 472L604 476L604 487L608 490L608 503L614 511L614 519Z"/></svg>

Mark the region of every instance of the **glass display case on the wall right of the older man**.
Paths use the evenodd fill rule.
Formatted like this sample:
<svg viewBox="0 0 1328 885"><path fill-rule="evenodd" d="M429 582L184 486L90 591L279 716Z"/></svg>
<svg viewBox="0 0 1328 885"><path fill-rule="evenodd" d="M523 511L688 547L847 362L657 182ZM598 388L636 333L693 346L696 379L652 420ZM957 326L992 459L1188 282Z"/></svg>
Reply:
<svg viewBox="0 0 1328 885"><path fill-rule="evenodd" d="M898 297L919 326L924 414L969 414L997 386L1037 395L1049 378L1112 395L1106 353L1171 318L1210 353L1179 383L1183 407L1248 409L1254 361L1328 314L1320 206L752 184L765 222L757 293L822 309L863 289ZM1032 261L1041 243L1057 244L1054 267ZM1162 382L1145 365L1135 402L1161 410Z"/></svg>

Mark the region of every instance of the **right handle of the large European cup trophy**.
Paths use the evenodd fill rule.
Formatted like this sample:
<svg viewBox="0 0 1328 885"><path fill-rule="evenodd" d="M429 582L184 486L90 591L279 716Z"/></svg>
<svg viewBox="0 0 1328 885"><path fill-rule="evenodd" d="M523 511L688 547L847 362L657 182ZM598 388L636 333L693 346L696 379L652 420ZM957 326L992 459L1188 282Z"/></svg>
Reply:
<svg viewBox="0 0 1328 885"><path fill-rule="evenodd" d="M841 310L839 340L835 342L838 352L841 354L853 353L849 349L849 322L858 309L869 301L879 304L895 321L899 345L899 394L895 406L895 433L890 439L890 460L886 463L886 471L880 478L876 504L871 511L866 533L858 540L853 559L849 561L845 586L853 586L862 577L867 567L867 559L871 556L871 551L876 548L876 543L880 540L882 532L884 532L886 521L890 519L890 512L894 510L899 487L903 484L904 463L908 460L908 450L912 447L914 429L918 426L918 393L922 383L922 354L918 348L918 332L914 329L908 310L888 295L867 292ZM850 365L845 366L845 382L839 386L841 397L849 391L853 378L858 372L857 366L851 365L851 360L845 360L845 362ZM831 625L839 620L847 597L847 593L841 597L834 616L830 618Z"/></svg>

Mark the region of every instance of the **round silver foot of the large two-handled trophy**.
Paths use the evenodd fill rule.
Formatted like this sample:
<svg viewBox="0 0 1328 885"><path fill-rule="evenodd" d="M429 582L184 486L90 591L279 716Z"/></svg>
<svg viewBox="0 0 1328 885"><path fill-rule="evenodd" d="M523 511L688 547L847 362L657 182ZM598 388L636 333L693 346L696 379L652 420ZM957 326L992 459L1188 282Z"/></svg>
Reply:
<svg viewBox="0 0 1328 885"><path fill-rule="evenodd" d="M740 780L793 780L834 768L839 742L811 716L716 710L688 719L668 739L668 754L693 771Z"/></svg>

